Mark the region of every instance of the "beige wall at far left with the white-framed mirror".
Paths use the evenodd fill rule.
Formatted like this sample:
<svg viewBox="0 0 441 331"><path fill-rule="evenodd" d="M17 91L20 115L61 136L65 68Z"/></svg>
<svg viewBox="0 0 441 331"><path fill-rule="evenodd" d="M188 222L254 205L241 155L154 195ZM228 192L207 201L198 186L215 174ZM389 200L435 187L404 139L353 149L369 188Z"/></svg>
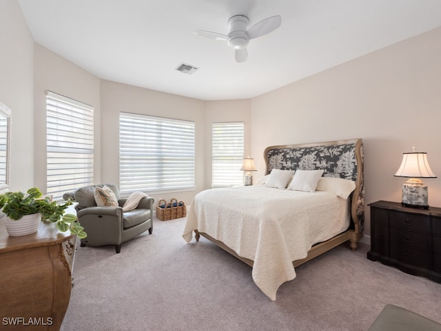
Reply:
<svg viewBox="0 0 441 331"><path fill-rule="evenodd" d="M0 1L0 101L12 110L10 190L34 180L34 41L17 1Z"/></svg>

